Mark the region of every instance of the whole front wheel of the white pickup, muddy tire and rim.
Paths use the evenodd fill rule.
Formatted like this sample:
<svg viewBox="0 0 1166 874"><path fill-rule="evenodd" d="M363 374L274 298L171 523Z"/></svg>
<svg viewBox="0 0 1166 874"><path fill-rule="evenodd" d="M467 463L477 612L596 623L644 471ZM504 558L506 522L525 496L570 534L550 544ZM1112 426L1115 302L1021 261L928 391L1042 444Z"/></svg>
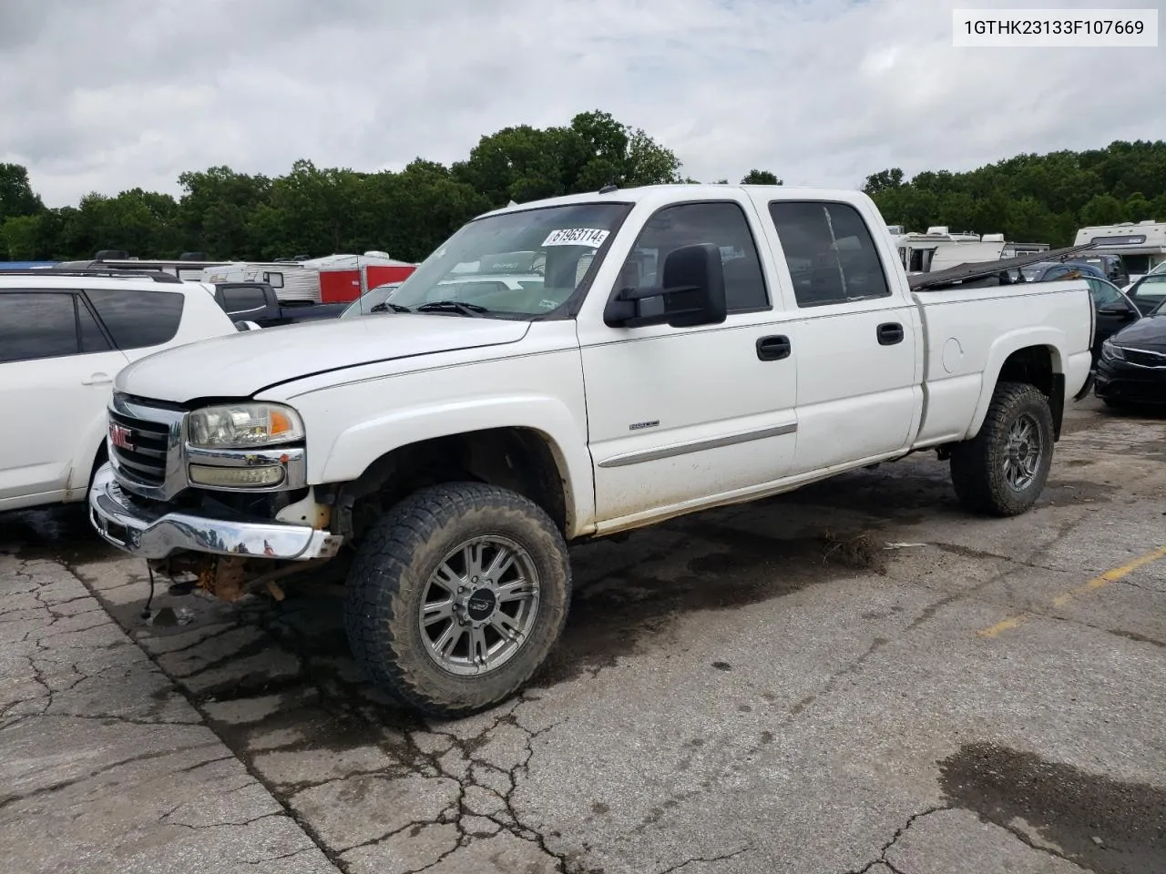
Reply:
<svg viewBox="0 0 1166 874"><path fill-rule="evenodd" d="M389 509L349 571L345 628L394 698L456 718L514 695L570 604L567 544L533 501L496 486L423 488Z"/></svg>

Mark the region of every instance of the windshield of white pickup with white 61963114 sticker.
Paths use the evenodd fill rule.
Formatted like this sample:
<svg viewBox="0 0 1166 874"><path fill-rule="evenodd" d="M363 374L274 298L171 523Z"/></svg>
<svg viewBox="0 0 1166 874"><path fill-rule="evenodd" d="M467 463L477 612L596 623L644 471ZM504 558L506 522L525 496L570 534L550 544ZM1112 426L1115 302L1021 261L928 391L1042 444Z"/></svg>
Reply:
<svg viewBox="0 0 1166 874"><path fill-rule="evenodd" d="M494 318L546 316L571 297L630 211L631 204L588 203L477 219L427 258L389 304Z"/></svg>

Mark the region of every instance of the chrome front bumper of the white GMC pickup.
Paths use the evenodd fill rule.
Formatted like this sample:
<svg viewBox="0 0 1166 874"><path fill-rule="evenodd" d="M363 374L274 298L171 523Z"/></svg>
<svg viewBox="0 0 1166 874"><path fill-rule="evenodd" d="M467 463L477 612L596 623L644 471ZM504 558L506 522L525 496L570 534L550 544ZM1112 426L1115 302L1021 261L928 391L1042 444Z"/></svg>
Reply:
<svg viewBox="0 0 1166 874"><path fill-rule="evenodd" d="M121 491L110 464L93 478L89 517L105 541L140 558L192 551L307 562L335 556L343 540L329 531L281 522L154 513Z"/></svg>

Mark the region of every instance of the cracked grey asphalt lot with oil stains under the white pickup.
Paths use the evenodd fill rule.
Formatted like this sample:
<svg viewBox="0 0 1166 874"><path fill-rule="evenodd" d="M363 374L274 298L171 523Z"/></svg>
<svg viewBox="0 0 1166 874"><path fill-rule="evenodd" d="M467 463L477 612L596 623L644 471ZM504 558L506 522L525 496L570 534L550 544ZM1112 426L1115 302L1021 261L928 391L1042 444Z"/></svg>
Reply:
<svg viewBox="0 0 1166 874"><path fill-rule="evenodd" d="M0 516L0 858L34 872L1160 874L1166 418L1068 414L1041 505L933 456L574 550L518 699L422 721L325 584L159 586ZM1154 559L1154 550L1164 556Z"/></svg>

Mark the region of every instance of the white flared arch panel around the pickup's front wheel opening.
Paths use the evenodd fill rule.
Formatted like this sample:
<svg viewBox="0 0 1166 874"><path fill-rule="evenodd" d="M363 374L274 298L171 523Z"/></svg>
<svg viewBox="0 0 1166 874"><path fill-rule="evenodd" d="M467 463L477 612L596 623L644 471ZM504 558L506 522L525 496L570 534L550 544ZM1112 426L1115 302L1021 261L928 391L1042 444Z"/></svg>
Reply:
<svg viewBox="0 0 1166 874"><path fill-rule="evenodd" d="M595 520L595 481L586 449L585 422L553 397L498 396L430 404L410 404L342 430L324 453L321 470L309 470L309 481L347 482L381 456L402 446L493 428L525 428L543 436L559 465L575 531L583 534ZM309 452L311 459L312 452ZM309 465L311 461L309 460Z"/></svg>

